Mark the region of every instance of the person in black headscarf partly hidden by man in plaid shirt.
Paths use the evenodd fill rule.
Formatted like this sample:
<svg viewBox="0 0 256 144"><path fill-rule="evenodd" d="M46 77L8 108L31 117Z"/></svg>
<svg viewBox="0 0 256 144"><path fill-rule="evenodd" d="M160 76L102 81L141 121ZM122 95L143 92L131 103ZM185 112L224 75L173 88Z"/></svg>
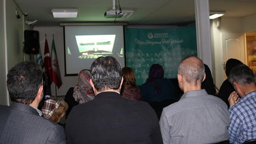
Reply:
<svg viewBox="0 0 256 144"><path fill-rule="evenodd" d="M238 64L243 64L243 63L237 59L229 59L227 61L226 68L225 68L225 73L227 77L229 76L231 69L233 69ZM229 107L228 98L233 91L235 91L235 89L232 86L232 84L229 83L229 80L228 79L224 80L224 82L220 86L218 97L222 99L227 104L228 107Z"/></svg>

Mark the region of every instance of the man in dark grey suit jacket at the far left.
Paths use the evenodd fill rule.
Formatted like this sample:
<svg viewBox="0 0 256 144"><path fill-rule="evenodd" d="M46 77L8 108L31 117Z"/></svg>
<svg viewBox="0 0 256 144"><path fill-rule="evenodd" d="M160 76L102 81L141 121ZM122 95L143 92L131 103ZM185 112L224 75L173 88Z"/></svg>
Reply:
<svg viewBox="0 0 256 144"><path fill-rule="evenodd" d="M41 117L43 70L31 61L12 67L7 74L11 106L0 106L0 144L66 144L64 128Z"/></svg>

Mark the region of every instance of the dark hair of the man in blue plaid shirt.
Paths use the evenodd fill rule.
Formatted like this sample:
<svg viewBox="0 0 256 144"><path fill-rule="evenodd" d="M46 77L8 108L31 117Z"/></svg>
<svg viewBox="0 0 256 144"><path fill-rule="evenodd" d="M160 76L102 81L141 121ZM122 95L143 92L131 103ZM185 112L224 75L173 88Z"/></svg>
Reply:
<svg viewBox="0 0 256 144"><path fill-rule="evenodd" d="M239 64L231 69L228 79L234 88L234 82L243 86L250 85L251 83L256 84L256 78L253 71L245 64Z"/></svg>

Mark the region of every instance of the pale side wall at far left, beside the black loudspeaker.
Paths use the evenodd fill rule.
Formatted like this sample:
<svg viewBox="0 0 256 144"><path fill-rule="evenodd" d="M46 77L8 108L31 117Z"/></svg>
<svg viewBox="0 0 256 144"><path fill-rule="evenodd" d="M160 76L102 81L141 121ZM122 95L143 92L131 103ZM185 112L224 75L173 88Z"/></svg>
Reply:
<svg viewBox="0 0 256 144"><path fill-rule="evenodd" d="M20 13L20 19L16 17L16 10ZM29 60L29 56L23 57L22 53L23 31L24 27L26 29L32 27L24 26L23 21L23 16L13 0L0 0L0 104L2 105L10 104L6 87L8 69L24 59Z"/></svg>

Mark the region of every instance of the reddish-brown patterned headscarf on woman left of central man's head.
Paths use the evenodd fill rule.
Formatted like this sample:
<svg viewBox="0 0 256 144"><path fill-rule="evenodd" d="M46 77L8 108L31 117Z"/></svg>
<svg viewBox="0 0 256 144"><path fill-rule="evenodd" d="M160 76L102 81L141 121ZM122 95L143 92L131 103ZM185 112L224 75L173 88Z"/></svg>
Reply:
<svg viewBox="0 0 256 144"><path fill-rule="evenodd" d="M73 96L79 104L90 101L95 97L90 79L91 73L88 70L83 69L78 74L78 84L74 87Z"/></svg>

